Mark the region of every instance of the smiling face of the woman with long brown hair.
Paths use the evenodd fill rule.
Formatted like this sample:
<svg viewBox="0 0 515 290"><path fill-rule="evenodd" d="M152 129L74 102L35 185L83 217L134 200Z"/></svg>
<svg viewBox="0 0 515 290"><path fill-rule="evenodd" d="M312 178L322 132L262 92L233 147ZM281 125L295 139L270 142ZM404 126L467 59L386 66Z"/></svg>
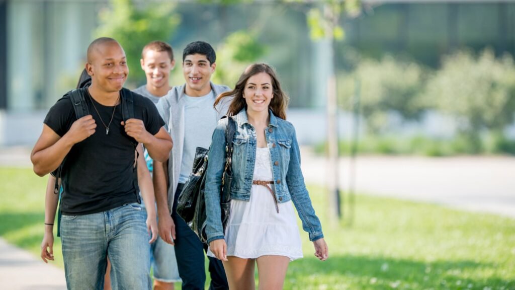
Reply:
<svg viewBox="0 0 515 290"><path fill-rule="evenodd" d="M243 97L247 103L247 112L268 111L268 105L273 99L272 78L269 74L261 72L247 80Z"/></svg>

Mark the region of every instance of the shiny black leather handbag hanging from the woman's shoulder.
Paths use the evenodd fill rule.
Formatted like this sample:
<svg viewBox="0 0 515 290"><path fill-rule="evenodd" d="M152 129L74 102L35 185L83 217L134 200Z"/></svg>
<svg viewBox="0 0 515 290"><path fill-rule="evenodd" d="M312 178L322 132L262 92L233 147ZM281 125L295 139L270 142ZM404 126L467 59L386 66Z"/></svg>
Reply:
<svg viewBox="0 0 515 290"><path fill-rule="evenodd" d="M231 183L232 183L232 139L236 131L236 123L232 117L228 118L226 130L226 162L224 174L222 174L222 185L220 187L220 208L221 222L225 229L229 221L231 211ZM205 172L208 169L209 150L197 147L193 170L190 177L184 184L179 200L177 202L177 214L184 219L200 238L202 243L207 244L207 234L205 233L206 213L204 200Z"/></svg>

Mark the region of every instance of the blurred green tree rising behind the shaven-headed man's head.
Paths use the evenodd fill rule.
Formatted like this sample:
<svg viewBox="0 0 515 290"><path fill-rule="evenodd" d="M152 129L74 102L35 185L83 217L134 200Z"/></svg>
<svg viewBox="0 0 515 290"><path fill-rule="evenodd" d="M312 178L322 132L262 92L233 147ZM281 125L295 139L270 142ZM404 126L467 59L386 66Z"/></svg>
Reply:
<svg viewBox="0 0 515 290"><path fill-rule="evenodd" d="M124 48L129 66L129 83L145 78L140 58L143 46L150 41L170 39L181 19L171 2L150 2L135 5L131 0L111 0L109 8L99 14L94 37L112 37Z"/></svg>

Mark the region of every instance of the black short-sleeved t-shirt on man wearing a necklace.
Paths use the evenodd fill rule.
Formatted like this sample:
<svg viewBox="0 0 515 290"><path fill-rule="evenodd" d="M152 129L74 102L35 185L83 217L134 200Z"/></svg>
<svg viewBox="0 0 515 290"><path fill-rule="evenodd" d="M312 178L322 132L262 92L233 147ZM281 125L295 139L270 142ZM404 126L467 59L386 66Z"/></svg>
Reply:
<svg viewBox="0 0 515 290"><path fill-rule="evenodd" d="M164 125L156 106L139 94L133 95L134 118L143 120L146 130L156 135ZM75 144L66 155L60 208L67 215L104 212L139 200L133 182L135 140L121 125L122 105L116 106L106 135L106 127L91 102L106 125L111 120L113 107L101 105L89 95L85 96L85 101L97 127L93 135ZM65 95L50 108L44 123L62 137L76 120L72 102Z"/></svg>

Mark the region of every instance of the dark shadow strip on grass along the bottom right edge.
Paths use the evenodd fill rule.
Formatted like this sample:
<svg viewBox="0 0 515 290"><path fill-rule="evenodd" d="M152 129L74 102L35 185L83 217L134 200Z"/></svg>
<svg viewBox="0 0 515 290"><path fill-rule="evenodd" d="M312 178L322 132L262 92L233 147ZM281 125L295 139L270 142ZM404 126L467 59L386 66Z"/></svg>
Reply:
<svg viewBox="0 0 515 290"><path fill-rule="evenodd" d="M288 268L287 289L512 289L515 281L490 277L496 265L473 261L419 262L374 256L307 257ZM477 275L481 273L482 275Z"/></svg>

